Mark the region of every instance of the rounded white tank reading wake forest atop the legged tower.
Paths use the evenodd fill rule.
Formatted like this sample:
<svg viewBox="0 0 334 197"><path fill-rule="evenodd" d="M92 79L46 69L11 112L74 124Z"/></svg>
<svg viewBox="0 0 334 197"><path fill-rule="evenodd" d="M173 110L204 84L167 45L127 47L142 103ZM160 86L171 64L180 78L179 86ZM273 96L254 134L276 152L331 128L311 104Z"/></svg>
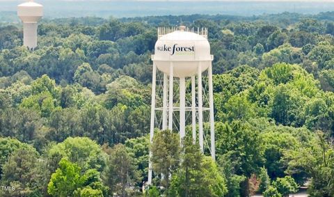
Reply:
<svg viewBox="0 0 334 197"><path fill-rule="evenodd" d="M202 71L207 70L212 62L210 45L205 32L194 33L180 30L159 36L155 44L155 54L152 56L157 68L169 75L170 62L173 62L174 77L191 77L198 72L198 64Z"/></svg>

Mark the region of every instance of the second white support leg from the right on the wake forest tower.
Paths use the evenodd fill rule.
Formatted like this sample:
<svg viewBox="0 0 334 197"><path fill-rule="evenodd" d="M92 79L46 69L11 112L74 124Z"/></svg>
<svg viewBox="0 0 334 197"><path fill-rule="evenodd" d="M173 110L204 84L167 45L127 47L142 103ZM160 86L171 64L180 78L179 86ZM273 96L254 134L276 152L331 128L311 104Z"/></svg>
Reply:
<svg viewBox="0 0 334 197"><path fill-rule="evenodd" d="M203 102L202 102L202 65L198 65L198 139L200 141L200 150L204 152L203 141Z"/></svg>

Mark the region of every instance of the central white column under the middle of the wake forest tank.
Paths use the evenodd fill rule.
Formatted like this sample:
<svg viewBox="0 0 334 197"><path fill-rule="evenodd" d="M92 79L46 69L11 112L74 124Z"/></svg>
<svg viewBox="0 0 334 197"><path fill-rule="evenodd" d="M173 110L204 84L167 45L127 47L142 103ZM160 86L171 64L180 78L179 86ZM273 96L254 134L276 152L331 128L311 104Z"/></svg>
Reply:
<svg viewBox="0 0 334 197"><path fill-rule="evenodd" d="M180 141L186 136L186 79L180 77Z"/></svg>

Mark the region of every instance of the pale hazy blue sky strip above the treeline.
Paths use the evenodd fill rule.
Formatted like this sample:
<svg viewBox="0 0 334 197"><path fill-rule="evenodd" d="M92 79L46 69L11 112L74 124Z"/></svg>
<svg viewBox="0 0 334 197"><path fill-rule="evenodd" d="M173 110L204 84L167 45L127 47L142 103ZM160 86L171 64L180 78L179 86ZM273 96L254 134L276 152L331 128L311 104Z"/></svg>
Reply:
<svg viewBox="0 0 334 197"><path fill-rule="evenodd" d="M0 13L12 12L28 0L0 0ZM283 12L316 15L334 11L334 0L33 0L45 8L45 18L138 17L150 15L239 15ZM154 3L152 1L155 1ZM210 2L211 1L211 2ZM151 3L152 2L152 3ZM191 3L189 3L191 2ZM219 2L219 3L218 3ZM248 3L244 3L248 2ZM191 6L189 6L191 5ZM12 19L8 17L8 19Z"/></svg>

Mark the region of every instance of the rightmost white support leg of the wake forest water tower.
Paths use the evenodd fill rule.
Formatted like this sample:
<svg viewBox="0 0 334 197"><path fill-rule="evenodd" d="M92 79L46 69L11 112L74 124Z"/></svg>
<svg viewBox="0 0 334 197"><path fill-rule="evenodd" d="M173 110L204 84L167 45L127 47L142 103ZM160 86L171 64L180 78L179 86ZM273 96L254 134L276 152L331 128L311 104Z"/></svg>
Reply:
<svg viewBox="0 0 334 197"><path fill-rule="evenodd" d="M212 64L209 65L209 107L210 107L210 137L211 137L211 157L216 160L216 147L214 144L214 91L212 87Z"/></svg>

